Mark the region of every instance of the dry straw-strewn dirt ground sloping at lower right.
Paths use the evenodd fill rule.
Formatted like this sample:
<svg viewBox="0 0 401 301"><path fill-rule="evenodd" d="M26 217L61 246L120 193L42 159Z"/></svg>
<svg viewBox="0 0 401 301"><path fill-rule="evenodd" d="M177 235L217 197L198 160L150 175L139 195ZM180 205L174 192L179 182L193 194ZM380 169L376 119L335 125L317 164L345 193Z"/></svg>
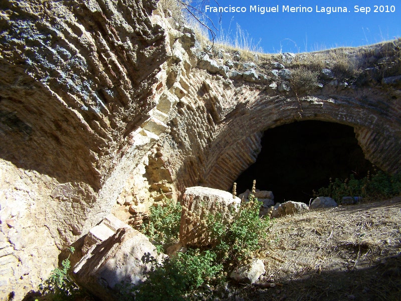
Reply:
<svg viewBox="0 0 401 301"><path fill-rule="evenodd" d="M401 197L277 218L245 300L401 300Z"/></svg>

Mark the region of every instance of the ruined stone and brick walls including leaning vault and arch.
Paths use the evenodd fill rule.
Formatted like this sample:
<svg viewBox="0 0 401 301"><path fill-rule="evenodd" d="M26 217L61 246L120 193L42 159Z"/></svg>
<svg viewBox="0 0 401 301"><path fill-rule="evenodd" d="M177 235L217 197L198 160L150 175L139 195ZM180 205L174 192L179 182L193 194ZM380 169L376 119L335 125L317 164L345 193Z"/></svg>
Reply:
<svg viewBox="0 0 401 301"><path fill-rule="evenodd" d="M292 61L302 55L206 54L156 1L23 0L0 10L2 299L36 290L62 250L82 249L110 213L138 226L149 206L187 187L228 190L269 128L346 124L370 162L400 171L399 41L349 50L360 80L321 70L297 95Z"/></svg>

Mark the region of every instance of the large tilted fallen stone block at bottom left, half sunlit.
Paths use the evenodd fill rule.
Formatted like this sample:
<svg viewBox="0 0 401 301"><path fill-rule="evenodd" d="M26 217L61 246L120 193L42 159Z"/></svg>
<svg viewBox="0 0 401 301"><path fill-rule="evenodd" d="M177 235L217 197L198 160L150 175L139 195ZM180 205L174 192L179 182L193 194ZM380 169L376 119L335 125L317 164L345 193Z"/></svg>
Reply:
<svg viewBox="0 0 401 301"><path fill-rule="evenodd" d="M74 266L74 278L101 300L114 301L117 284L137 285L146 279L151 257L161 262L165 255L157 254L156 247L139 231L121 228L88 250Z"/></svg>

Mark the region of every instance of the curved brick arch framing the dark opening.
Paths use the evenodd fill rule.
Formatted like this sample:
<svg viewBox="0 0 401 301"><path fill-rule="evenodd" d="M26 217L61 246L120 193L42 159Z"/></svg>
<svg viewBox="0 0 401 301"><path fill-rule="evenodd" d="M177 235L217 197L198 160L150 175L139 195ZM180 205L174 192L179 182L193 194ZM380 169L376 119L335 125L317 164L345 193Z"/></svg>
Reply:
<svg viewBox="0 0 401 301"><path fill-rule="evenodd" d="M263 131L300 120L320 120L352 126L365 158L384 171L399 172L400 120L394 104L381 99L319 96L261 96L225 120L209 150L205 167L208 186L229 189L256 161Z"/></svg>

